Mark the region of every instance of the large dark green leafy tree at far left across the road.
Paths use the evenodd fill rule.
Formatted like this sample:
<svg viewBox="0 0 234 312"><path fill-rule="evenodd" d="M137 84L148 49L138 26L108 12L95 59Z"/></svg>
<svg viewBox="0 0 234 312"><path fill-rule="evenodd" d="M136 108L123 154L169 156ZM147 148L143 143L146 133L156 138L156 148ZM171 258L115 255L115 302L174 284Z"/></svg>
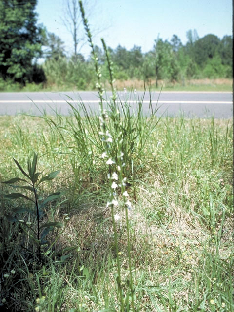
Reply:
<svg viewBox="0 0 234 312"><path fill-rule="evenodd" d="M43 28L36 25L36 0L0 0L0 73L25 84L35 77Z"/></svg>

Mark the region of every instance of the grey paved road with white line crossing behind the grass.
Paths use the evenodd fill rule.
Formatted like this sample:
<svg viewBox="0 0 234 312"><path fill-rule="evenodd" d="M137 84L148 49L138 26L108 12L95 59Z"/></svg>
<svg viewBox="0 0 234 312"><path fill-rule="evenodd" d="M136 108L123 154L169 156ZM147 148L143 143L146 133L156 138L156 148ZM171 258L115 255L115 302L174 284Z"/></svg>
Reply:
<svg viewBox="0 0 234 312"><path fill-rule="evenodd" d="M111 96L107 92L106 98ZM147 113L150 95L146 92L127 94L118 92L121 101L128 100L131 106L137 107L136 99L143 99L143 110ZM27 93L0 93L0 115L15 115L27 113L41 115L42 112L69 115L71 112L67 102L76 105L82 102L91 107L92 112L98 111L98 93L82 91L75 92L27 92ZM232 92L153 92L151 95L153 107L158 107L157 116L162 114L176 116L183 112L186 117L233 117Z"/></svg>

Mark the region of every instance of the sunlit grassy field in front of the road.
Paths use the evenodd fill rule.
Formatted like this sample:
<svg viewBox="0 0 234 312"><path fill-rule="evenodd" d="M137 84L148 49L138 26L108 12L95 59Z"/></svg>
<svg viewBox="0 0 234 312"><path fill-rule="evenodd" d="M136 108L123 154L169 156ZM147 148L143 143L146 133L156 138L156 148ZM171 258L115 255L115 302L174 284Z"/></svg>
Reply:
<svg viewBox="0 0 234 312"><path fill-rule="evenodd" d="M0 308L234 311L232 120L85 109L0 117Z"/></svg>

